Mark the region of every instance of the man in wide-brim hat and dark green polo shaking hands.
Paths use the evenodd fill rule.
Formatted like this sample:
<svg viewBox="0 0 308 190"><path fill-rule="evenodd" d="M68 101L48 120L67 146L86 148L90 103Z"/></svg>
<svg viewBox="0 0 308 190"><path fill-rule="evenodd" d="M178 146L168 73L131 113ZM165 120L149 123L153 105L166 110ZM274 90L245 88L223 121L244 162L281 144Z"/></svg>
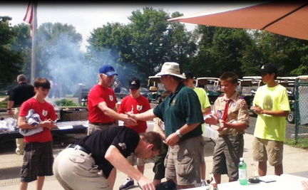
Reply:
<svg viewBox="0 0 308 190"><path fill-rule="evenodd" d="M167 179L173 179L178 189L187 189L200 184L200 162L204 141L201 124L204 122L197 94L183 84L185 75L180 65L166 62L160 73L161 83L172 93L154 109L138 115L135 120L150 120L159 117L165 122L165 142L170 146L165 159Z"/></svg>

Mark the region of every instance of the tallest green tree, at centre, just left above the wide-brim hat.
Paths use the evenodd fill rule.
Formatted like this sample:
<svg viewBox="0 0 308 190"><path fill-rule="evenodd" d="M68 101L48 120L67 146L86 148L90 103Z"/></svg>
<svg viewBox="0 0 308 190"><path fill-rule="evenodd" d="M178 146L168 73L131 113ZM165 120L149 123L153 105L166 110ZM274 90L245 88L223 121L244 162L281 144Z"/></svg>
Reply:
<svg viewBox="0 0 308 190"><path fill-rule="evenodd" d="M162 9L145 7L143 12L133 11L128 19L131 21L129 27L133 50L130 62L138 68L133 75L141 73L141 78L148 78L167 61L167 52L172 47L166 40L169 16Z"/></svg>

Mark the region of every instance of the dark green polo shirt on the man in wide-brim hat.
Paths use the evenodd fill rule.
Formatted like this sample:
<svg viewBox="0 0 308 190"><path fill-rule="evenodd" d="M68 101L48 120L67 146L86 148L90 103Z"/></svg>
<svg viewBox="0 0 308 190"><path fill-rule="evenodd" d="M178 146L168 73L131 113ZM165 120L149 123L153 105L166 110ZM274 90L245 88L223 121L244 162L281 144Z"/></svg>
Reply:
<svg viewBox="0 0 308 190"><path fill-rule="evenodd" d="M204 122L200 101L195 91L183 83L178 85L174 94L169 95L153 110L154 114L165 122L165 134L168 137L183 125L200 122L200 125L183 136L183 139L202 134Z"/></svg>

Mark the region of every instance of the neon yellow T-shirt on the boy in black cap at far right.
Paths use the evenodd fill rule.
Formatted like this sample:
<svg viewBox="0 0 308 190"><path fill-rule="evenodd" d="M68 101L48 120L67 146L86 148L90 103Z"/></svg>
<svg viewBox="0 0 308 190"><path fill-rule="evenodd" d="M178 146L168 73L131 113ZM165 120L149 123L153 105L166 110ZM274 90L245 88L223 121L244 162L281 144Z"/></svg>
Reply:
<svg viewBox="0 0 308 190"><path fill-rule="evenodd" d="M257 89L253 105L260 105L263 110L289 111L287 89L282 85L268 88L267 85ZM260 114L255 126L255 137L284 142L286 139L286 117Z"/></svg>

